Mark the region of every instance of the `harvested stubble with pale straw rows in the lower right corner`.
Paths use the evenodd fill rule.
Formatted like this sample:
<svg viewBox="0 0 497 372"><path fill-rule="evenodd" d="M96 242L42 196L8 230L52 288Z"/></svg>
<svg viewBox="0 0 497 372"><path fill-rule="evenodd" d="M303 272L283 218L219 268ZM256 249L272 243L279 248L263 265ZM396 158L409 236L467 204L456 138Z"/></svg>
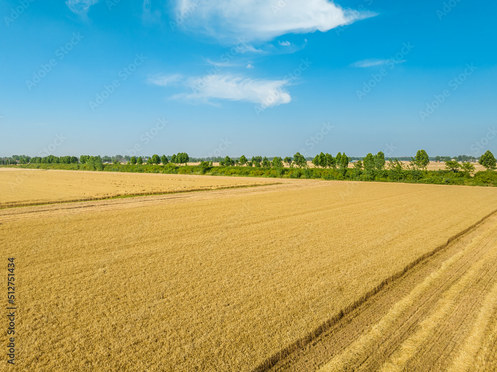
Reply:
<svg viewBox="0 0 497 372"><path fill-rule="evenodd" d="M494 215L258 371L496 371L496 316Z"/></svg>

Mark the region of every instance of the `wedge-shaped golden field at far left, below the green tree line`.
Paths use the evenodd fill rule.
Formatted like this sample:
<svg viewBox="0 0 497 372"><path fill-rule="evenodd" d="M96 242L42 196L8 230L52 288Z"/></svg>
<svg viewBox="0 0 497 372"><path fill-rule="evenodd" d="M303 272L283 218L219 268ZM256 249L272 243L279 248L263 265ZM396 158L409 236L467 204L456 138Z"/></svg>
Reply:
<svg viewBox="0 0 497 372"><path fill-rule="evenodd" d="M0 208L275 182L263 178L0 168Z"/></svg>

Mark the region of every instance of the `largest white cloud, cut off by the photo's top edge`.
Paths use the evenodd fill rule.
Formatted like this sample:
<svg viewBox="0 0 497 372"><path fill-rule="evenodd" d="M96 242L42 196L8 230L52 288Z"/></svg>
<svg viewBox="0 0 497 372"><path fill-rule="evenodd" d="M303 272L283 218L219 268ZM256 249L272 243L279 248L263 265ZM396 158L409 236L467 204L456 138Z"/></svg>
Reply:
<svg viewBox="0 0 497 372"><path fill-rule="evenodd" d="M188 15L184 26L220 40L239 37L268 41L288 33L326 32L376 15L343 9L329 0L176 0L176 11Z"/></svg>

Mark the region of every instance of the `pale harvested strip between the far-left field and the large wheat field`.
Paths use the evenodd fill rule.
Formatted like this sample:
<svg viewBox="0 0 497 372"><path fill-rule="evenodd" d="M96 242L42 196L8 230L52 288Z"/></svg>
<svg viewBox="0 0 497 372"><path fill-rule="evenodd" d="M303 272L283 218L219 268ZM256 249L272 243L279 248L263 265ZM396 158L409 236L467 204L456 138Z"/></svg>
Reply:
<svg viewBox="0 0 497 372"><path fill-rule="evenodd" d="M107 199L8 208L0 210L0 223L35 220L55 216L71 216L76 214L113 211L127 208L140 208L155 205L186 203L209 199L236 198L241 196L324 187L330 186L332 184L344 183L348 182L322 180L284 180L281 184L267 186L257 185L253 187L230 188L224 190L196 191L151 196L138 196L122 199Z"/></svg>

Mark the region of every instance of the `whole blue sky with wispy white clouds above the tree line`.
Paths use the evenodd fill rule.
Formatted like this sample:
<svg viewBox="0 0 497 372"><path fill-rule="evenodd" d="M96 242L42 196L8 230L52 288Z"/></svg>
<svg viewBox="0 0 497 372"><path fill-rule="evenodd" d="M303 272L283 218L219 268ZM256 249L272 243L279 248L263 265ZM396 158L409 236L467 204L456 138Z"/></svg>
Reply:
<svg viewBox="0 0 497 372"><path fill-rule="evenodd" d="M0 154L496 152L496 10L1 0Z"/></svg>

